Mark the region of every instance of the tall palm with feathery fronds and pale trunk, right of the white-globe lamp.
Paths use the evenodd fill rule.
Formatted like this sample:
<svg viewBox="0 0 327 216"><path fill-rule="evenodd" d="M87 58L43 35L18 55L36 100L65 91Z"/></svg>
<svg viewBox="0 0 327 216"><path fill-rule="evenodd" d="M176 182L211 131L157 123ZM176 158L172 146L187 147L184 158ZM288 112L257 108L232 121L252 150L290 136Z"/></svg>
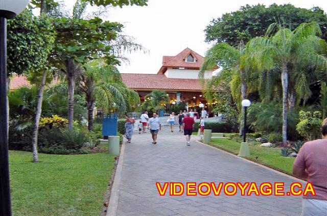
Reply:
<svg viewBox="0 0 327 216"><path fill-rule="evenodd" d="M274 29L278 31L270 36ZM287 145L287 111L291 71L302 70L306 66L326 68L327 60L319 55L321 40L319 25L315 22L302 23L293 32L281 24L273 23L265 37L253 38L247 44L247 49L257 64L259 71L278 69L283 87L283 144ZM291 80L292 84L295 80Z"/></svg>

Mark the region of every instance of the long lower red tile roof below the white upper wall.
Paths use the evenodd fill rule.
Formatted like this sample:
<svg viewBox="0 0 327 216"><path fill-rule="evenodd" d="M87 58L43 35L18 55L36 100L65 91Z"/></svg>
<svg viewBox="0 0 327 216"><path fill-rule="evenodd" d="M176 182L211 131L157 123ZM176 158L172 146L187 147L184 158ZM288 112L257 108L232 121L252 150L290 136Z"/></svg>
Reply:
<svg viewBox="0 0 327 216"><path fill-rule="evenodd" d="M122 73L123 82L131 89L202 91L197 79L168 78L164 74Z"/></svg>

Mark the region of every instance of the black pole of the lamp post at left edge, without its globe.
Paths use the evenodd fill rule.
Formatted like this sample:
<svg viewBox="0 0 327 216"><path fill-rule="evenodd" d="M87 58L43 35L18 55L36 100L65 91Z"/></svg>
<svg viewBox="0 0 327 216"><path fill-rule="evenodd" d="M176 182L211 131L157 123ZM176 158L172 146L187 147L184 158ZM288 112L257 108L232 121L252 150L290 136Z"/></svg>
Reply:
<svg viewBox="0 0 327 216"><path fill-rule="evenodd" d="M11 216L8 161L7 19L0 17L0 215Z"/></svg>

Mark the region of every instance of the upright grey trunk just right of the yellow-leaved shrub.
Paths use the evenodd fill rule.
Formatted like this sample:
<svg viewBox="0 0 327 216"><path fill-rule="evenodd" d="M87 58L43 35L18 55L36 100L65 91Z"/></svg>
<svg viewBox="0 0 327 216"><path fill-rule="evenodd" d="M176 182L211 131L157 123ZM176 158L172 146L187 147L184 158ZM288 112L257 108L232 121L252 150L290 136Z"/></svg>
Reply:
<svg viewBox="0 0 327 216"><path fill-rule="evenodd" d="M66 76L68 82L68 129L74 127L74 91L76 81L76 65L73 60L66 60Z"/></svg>

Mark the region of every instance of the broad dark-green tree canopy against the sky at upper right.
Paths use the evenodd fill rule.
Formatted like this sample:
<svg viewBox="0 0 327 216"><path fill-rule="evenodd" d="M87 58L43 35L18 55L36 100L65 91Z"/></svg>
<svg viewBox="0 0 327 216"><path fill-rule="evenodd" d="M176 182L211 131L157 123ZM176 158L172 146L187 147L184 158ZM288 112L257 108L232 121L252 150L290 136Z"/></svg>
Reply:
<svg viewBox="0 0 327 216"><path fill-rule="evenodd" d="M246 5L238 11L213 19L204 30L205 41L237 45L240 40L246 43L251 38L264 36L269 25L274 22L294 30L300 23L311 21L319 24L322 38L327 39L327 16L319 7L305 9L291 4L272 4L269 7Z"/></svg>

